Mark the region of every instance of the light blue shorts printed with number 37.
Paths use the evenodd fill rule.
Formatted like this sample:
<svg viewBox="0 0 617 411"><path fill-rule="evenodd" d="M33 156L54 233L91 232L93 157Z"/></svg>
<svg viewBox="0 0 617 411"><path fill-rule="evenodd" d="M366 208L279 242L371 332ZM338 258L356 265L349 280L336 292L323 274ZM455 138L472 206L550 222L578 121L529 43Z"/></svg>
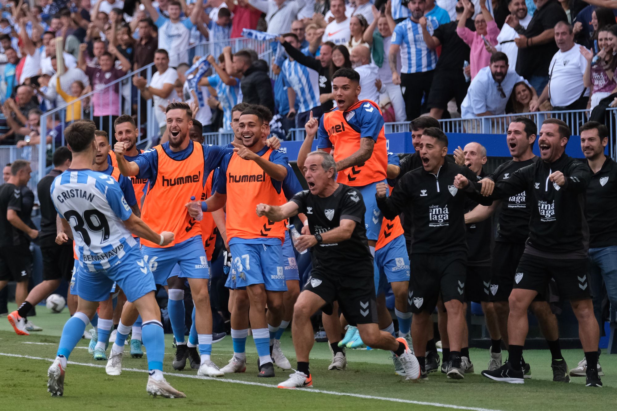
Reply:
<svg viewBox="0 0 617 411"><path fill-rule="evenodd" d="M245 244L240 242L242 239L233 240L234 243L230 244L233 259L228 282L235 283L235 286L230 288L264 284L267 291L287 291L282 265L283 247L280 242L276 245Z"/></svg>

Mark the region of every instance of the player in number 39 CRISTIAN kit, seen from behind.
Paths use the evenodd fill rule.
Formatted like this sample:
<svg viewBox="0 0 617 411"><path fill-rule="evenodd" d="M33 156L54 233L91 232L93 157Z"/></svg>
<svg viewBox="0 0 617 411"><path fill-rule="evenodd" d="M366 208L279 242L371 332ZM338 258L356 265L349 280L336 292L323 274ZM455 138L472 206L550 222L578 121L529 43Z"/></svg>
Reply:
<svg viewBox="0 0 617 411"><path fill-rule="evenodd" d="M48 391L52 396L64 394L68 355L80 341L99 301L109 297L116 281L143 318L142 338L149 369L146 391L154 396L185 397L163 378L165 341L154 298L154 276L131 233L162 246L171 243L174 235L152 231L131 212L117 181L92 170L97 152L95 130L94 122L89 120L79 120L65 129L73 153L72 168L57 176L51 185L51 198L64 232L75 240L79 281L77 312L62 330L56 360L48 370Z"/></svg>

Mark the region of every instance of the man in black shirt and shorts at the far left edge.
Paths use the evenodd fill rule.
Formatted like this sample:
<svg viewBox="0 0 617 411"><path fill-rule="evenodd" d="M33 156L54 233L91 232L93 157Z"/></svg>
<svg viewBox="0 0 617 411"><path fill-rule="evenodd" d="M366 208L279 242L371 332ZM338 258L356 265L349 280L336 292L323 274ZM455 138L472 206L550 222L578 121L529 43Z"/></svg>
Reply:
<svg viewBox="0 0 617 411"><path fill-rule="evenodd" d="M0 289L9 281L15 281L15 302L18 305L28 295L32 264L30 240L39 234L25 223L30 216L25 216L27 209L23 204L21 188L30 181L31 172L30 162L15 160L10 166L9 181L0 186ZM26 329L25 318L20 318L19 322L14 322L11 315L7 318L18 334L30 334Z"/></svg>

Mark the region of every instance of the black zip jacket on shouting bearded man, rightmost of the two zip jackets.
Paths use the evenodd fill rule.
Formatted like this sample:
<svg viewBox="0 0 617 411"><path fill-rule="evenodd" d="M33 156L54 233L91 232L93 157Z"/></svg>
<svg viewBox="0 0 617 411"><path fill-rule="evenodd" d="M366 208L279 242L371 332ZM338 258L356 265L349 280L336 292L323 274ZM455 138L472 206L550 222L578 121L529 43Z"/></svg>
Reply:
<svg viewBox="0 0 617 411"><path fill-rule="evenodd" d="M549 181L549 175L556 171L566 178L561 187ZM526 191L531 207L526 244L550 253L587 252L589 228L584 210L590 179L587 164L564 153L553 163L539 160L516 170L510 178L497 181L489 198L500 199ZM471 185L478 192L482 187L475 181Z"/></svg>

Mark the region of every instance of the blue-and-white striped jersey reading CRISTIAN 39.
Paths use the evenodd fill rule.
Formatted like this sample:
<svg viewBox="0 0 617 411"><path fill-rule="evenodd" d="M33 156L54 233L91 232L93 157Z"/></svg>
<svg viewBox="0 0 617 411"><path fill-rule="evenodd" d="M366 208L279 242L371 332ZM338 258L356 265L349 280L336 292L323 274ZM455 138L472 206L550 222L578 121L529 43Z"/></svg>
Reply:
<svg viewBox="0 0 617 411"><path fill-rule="evenodd" d="M136 245L123 224L131 209L112 176L68 169L52 183L51 198L70 224L77 257L89 271L117 264Z"/></svg>

